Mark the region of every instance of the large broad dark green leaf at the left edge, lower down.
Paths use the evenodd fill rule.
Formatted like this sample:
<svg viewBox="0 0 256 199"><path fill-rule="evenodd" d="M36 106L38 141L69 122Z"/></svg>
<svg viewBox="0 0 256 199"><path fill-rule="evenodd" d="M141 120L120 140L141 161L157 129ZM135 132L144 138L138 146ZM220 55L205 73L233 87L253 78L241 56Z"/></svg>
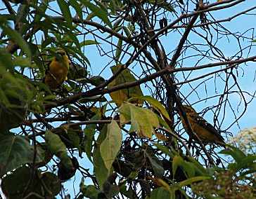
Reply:
<svg viewBox="0 0 256 199"><path fill-rule="evenodd" d="M0 134L0 177L25 163L33 163L34 147L25 137L20 135ZM37 151L36 162L43 160L40 151Z"/></svg>

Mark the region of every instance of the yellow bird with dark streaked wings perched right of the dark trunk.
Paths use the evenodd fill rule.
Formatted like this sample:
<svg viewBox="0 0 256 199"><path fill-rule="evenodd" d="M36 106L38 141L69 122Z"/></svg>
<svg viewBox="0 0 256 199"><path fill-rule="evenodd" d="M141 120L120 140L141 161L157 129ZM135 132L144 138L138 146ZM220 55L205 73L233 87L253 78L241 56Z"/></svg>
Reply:
<svg viewBox="0 0 256 199"><path fill-rule="evenodd" d="M202 142L215 143L222 146L225 144L222 135L220 135L220 133L210 123L205 121L204 118L199 116L195 109L193 109L191 106L186 105L184 105L183 107L193 132L198 135ZM181 121L185 130L188 132L188 127L182 116Z"/></svg>

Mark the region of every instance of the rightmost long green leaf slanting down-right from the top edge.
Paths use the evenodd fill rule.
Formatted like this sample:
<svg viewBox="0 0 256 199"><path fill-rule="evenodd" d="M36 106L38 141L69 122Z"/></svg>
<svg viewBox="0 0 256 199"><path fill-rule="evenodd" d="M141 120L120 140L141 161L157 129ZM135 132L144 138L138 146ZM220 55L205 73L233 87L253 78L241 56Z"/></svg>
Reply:
<svg viewBox="0 0 256 199"><path fill-rule="evenodd" d="M110 20L108 20L108 13L101 7L95 6L88 0L80 0L84 6L87 6L93 12L98 18L103 20L106 25L108 25L110 28L112 28L112 25L110 23Z"/></svg>

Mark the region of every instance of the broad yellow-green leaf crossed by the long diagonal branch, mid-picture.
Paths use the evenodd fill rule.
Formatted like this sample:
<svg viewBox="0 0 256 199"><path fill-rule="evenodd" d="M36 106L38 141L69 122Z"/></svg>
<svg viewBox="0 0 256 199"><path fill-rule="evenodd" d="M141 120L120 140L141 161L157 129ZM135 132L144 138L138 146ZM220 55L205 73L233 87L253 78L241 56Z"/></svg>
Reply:
<svg viewBox="0 0 256 199"><path fill-rule="evenodd" d="M119 64L117 66L111 67L111 71L113 74L116 74L116 72L120 68L122 68L122 65ZM129 69L124 69L111 83L108 84L108 89L113 88L115 85L120 85L122 83L129 83L132 81L136 81L136 78L131 73L131 71L129 71ZM142 95L143 93L139 85L136 85L132 88L126 88L122 90L117 90L115 92L110 92L111 98L113 99L115 104L117 104L118 107L120 107L120 105L123 102L127 102L129 98L142 96ZM130 102L134 104L142 104L141 101L142 100L134 100L134 102L132 102L130 100Z"/></svg>

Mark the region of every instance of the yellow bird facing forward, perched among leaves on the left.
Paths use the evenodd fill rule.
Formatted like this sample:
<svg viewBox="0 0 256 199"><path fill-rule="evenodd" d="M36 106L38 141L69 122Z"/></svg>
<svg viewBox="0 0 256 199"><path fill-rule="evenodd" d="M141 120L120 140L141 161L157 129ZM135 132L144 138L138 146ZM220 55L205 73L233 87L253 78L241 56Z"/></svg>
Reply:
<svg viewBox="0 0 256 199"><path fill-rule="evenodd" d="M68 70L70 68L70 60L67 53L64 50L57 50L56 53L60 56L53 57L43 80L51 89L58 88L68 79Z"/></svg>

